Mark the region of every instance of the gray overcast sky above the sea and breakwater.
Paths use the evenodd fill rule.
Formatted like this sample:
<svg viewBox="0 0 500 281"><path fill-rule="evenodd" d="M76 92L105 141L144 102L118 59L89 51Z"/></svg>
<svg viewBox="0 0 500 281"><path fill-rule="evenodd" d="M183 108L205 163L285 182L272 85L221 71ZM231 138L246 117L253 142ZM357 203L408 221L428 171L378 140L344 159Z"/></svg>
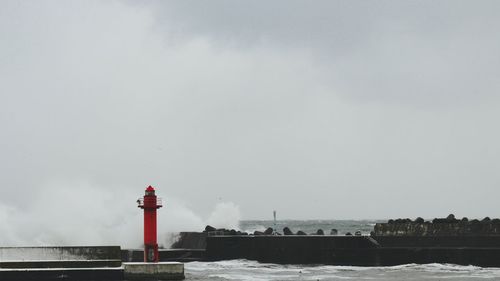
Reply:
<svg viewBox="0 0 500 281"><path fill-rule="evenodd" d="M180 229L238 210L498 217L499 11L498 1L1 1L4 242L82 232L75 217L135 227L149 184Z"/></svg>

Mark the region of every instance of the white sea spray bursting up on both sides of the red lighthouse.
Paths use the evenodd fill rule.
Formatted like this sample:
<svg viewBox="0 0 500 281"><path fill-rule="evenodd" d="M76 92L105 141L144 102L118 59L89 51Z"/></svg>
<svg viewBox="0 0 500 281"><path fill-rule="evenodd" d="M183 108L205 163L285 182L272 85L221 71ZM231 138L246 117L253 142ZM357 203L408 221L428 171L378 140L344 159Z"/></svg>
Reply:
<svg viewBox="0 0 500 281"><path fill-rule="evenodd" d="M168 247L172 233L200 231L205 225L238 228L240 212L218 203L202 217L159 187L164 207L158 212L158 241ZM25 205L0 199L0 246L119 245L142 248L143 213L136 206L141 188L102 187L85 181L42 185Z"/></svg>

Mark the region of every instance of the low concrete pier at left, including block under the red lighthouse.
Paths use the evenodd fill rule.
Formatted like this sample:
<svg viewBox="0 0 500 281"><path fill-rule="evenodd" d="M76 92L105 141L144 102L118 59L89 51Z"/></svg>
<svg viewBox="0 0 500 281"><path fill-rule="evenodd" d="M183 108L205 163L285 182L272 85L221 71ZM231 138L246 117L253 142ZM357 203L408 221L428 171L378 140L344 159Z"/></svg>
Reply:
<svg viewBox="0 0 500 281"><path fill-rule="evenodd" d="M182 279L184 264L122 263L119 246L0 248L1 281Z"/></svg>

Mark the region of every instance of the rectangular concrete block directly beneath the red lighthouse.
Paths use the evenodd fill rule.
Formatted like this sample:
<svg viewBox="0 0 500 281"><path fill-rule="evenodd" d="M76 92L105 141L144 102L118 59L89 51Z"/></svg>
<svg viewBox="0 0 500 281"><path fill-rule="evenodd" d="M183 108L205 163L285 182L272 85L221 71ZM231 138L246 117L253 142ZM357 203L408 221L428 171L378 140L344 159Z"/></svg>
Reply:
<svg viewBox="0 0 500 281"><path fill-rule="evenodd" d="M184 280L184 264L180 262L124 262L125 280Z"/></svg>

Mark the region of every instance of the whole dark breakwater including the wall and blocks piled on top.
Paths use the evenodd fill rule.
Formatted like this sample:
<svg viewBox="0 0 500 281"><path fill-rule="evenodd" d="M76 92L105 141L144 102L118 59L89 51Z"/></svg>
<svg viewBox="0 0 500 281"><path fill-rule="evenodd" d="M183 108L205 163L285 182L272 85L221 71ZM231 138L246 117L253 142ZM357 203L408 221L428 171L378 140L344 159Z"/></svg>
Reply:
<svg viewBox="0 0 500 281"><path fill-rule="evenodd" d="M454 263L500 266L500 220L398 219L374 226L370 235L335 231L313 234L289 228L276 233L215 229L183 233L175 247L205 246L205 260L249 259L289 264L388 266ZM203 241L199 241L202 239Z"/></svg>

